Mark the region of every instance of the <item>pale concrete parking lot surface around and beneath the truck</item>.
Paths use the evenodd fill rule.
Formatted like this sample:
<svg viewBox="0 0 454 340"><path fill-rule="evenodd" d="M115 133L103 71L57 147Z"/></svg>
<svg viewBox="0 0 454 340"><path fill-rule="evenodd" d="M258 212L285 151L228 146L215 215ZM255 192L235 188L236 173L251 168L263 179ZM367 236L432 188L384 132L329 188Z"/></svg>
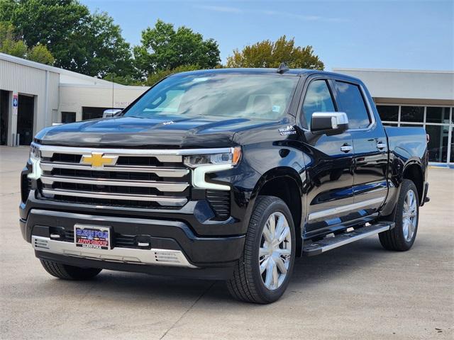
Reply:
<svg viewBox="0 0 454 340"><path fill-rule="evenodd" d="M0 147L0 339L453 339L454 170L430 169L431 202L406 252L370 237L297 259L272 305L222 282L102 271L53 278L18 226L26 147Z"/></svg>

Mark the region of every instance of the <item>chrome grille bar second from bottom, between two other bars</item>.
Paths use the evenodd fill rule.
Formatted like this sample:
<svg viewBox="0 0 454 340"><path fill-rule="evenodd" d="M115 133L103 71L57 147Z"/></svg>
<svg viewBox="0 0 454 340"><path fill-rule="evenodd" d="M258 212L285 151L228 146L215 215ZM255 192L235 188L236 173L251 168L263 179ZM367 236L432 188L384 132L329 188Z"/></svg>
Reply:
<svg viewBox="0 0 454 340"><path fill-rule="evenodd" d="M81 177L61 177L61 176L41 176L43 184L60 183L79 183L79 184L92 184L95 186L145 186L146 188L157 188L159 191L169 191L179 193L184 191L189 183L184 182L156 182L156 181L118 181L111 179L84 179Z"/></svg>

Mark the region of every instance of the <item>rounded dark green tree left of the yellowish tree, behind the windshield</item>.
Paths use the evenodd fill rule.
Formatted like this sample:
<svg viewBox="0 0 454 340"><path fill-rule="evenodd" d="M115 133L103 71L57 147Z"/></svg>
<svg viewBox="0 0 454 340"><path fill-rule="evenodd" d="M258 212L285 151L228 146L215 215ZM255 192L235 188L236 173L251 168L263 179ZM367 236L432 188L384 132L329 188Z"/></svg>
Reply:
<svg viewBox="0 0 454 340"><path fill-rule="evenodd" d="M184 26L175 30L171 23L161 20L155 27L143 30L141 45L134 47L134 57L135 67L143 77L184 65L212 68L221 61L215 40L204 40L200 33Z"/></svg>

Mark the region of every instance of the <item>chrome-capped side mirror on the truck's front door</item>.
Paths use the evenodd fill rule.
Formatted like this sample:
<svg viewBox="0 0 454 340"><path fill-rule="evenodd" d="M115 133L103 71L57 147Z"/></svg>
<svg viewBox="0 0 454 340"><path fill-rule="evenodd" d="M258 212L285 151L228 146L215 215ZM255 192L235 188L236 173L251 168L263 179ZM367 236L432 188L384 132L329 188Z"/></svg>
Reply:
<svg viewBox="0 0 454 340"><path fill-rule="evenodd" d="M311 118L311 131L319 134L338 135L348 129L345 112L314 112Z"/></svg>

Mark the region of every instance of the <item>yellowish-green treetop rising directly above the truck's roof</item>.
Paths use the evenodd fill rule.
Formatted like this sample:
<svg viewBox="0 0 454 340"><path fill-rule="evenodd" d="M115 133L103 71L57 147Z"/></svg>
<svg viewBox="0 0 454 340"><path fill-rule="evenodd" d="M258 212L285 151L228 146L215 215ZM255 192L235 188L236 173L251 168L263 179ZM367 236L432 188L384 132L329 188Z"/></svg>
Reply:
<svg viewBox="0 0 454 340"><path fill-rule="evenodd" d="M279 67L286 62L289 67L301 69L323 69L323 62L314 54L312 46L295 46L294 38L287 40L282 35L275 42L263 40L243 48L233 50L227 58L227 67Z"/></svg>

